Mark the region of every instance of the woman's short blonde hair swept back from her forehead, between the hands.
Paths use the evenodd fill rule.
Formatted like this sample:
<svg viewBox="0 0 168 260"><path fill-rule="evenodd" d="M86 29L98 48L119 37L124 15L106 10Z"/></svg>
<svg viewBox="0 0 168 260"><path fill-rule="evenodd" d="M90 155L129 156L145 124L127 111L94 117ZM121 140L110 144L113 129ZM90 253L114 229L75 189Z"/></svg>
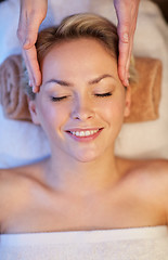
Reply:
<svg viewBox="0 0 168 260"><path fill-rule="evenodd" d="M44 56L53 46L78 38L94 38L100 41L106 51L118 58L117 28L108 20L90 13L75 14L64 18L59 26L47 28L39 32L36 42L37 58L41 67ZM133 78L133 69L130 65L130 79ZM35 99L31 88L26 88L29 99Z"/></svg>

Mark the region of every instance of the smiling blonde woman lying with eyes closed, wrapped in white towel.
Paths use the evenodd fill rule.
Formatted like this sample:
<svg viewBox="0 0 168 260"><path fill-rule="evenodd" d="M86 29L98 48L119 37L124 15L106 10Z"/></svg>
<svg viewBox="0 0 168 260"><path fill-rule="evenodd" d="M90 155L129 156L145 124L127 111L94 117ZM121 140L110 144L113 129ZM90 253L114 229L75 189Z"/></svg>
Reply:
<svg viewBox="0 0 168 260"><path fill-rule="evenodd" d="M1 170L2 260L166 259L168 161L114 155L131 102L117 46L91 14L39 35L42 84L28 100L51 156Z"/></svg>

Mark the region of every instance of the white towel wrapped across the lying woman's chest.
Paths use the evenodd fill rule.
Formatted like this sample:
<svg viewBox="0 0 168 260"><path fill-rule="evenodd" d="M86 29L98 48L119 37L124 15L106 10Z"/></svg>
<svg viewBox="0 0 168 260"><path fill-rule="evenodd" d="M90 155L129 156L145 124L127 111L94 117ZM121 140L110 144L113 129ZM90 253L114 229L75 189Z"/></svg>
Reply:
<svg viewBox="0 0 168 260"><path fill-rule="evenodd" d="M167 226L0 236L1 260L167 260Z"/></svg>

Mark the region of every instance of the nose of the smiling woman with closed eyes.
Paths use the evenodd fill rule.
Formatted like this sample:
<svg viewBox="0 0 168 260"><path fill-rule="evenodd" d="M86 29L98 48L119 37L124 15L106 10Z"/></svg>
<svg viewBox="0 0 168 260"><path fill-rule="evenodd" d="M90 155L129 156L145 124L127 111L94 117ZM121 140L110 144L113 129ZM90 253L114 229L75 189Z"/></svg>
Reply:
<svg viewBox="0 0 168 260"><path fill-rule="evenodd" d="M94 107L89 96L77 96L74 101L72 118L86 121L93 118Z"/></svg>

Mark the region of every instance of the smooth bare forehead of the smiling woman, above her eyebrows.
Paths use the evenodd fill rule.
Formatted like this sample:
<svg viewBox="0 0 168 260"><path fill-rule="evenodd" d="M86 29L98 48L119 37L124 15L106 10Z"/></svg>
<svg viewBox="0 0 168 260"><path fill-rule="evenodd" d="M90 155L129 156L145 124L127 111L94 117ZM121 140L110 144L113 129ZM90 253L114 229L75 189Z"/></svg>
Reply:
<svg viewBox="0 0 168 260"><path fill-rule="evenodd" d="M107 74L117 76L117 62L99 40L73 39L54 44L42 63L42 74L72 75ZM94 76L94 75L92 75Z"/></svg>

